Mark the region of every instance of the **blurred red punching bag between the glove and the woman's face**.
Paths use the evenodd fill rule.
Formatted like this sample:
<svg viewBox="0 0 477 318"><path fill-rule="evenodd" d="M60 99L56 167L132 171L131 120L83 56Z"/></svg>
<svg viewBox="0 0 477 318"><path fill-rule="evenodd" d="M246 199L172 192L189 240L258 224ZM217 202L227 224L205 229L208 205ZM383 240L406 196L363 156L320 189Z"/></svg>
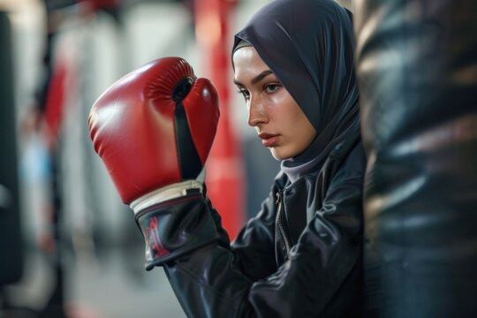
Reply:
<svg viewBox="0 0 477 318"><path fill-rule="evenodd" d="M231 121L230 106L232 37L228 23L235 4L226 0L196 0L194 4L197 41L221 109L216 140L208 156L208 197L222 216L223 227L235 239L246 215L241 143Z"/></svg>

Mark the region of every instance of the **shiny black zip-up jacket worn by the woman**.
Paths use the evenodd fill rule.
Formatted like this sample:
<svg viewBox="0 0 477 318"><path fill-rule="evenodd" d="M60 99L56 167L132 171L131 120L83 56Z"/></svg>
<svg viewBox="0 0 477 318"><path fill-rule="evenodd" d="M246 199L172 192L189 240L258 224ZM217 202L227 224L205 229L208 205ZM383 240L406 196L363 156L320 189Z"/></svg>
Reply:
<svg viewBox="0 0 477 318"><path fill-rule="evenodd" d="M161 265L186 314L360 317L365 166L360 140L347 140L293 184L278 174L231 244L208 199L166 225L173 257Z"/></svg>

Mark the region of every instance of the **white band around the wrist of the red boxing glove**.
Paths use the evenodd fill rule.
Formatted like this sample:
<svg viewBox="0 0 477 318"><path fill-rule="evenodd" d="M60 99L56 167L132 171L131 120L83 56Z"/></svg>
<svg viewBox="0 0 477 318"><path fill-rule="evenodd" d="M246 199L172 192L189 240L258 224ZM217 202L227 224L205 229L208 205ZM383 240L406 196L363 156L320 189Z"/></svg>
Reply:
<svg viewBox="0 0 477 318"><path fill-rule="evenodd" d="M164 186L151 193L147 193L131 202L129 206L133 208L134 215L137 215L143 209L149 208L157 203L183 197L194 191L202 193L202 190L203 184L200 181L187 180L170 186Z"/></svg>

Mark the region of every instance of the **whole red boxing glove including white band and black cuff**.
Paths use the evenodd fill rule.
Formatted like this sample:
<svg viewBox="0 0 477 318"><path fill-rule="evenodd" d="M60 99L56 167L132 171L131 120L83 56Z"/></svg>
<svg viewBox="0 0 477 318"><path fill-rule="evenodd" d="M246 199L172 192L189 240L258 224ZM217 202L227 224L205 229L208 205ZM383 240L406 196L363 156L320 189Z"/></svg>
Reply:
<svg viewBox="0 0 477 318"><path fill-rule="evenodd" d="M179 57L125 75L90 112L95 150L134 210L148 270L220 237L196 180L218 117L215 87Z"/></svg>

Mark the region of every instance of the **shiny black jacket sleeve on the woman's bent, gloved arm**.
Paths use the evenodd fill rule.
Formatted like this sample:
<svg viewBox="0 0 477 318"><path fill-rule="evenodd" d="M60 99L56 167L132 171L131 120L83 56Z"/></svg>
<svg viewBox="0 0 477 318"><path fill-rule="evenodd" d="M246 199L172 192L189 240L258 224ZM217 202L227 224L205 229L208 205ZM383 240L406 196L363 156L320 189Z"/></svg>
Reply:
<svg viewBox="0 0 477 318"><path fill-rule="evenodd" d="M270 269L260 268L269 264L274 251L269 234L274 225L266 213L248 224L238 243L231 246L220 239L164 264L186 314L327 317L341 311L343 315L359 294L362 183L362 175L339 170L322 208L292 247L290 259L267 276L261 277ZM207 213L217 217L211 206Z"/></svg>

